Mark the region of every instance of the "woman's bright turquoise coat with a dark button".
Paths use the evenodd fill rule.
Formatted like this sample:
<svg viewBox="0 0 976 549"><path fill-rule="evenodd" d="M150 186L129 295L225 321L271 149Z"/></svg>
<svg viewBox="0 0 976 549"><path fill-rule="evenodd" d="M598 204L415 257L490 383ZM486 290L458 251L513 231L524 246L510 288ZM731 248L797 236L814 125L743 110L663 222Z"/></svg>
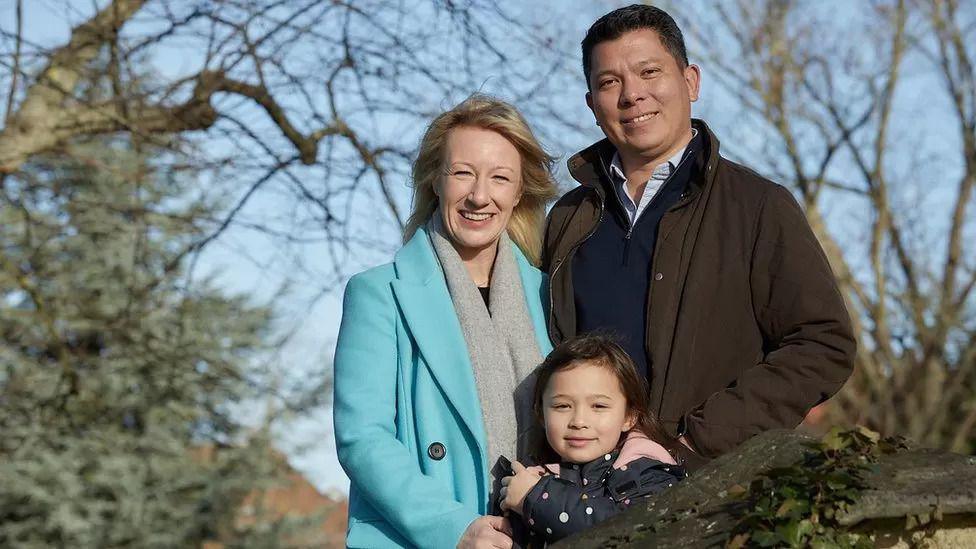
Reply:
<svg viewBox="0 0 976 549"><path fill-rule="evenodd" d="M543 275L512 246L543 356ZM349 547L454 547L487 513L481 405L447 283L421 228L393 263L349 280L335 355ZM447 449L440 460L432 443Z"/></svg>

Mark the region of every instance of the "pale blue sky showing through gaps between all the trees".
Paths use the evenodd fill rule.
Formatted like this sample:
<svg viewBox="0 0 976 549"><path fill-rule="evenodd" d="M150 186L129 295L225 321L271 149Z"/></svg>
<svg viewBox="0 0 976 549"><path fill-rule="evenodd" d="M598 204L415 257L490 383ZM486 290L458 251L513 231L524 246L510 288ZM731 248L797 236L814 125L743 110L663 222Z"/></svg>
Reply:
<svg viewBox="0 0 976 549"><path fill-rule="evenodd" d="M104 4L104 0L100 0L98 4ZM559 72L551 76L552 82L549 83L548 88L550 95L547 96L551 103L547 106L568 119L578 120L582 129L567 131L565 128L553 125L541 110L528 112L527 115L530 122L540 130L543 141L550 151L559 155L563 161L576 149L601 137L583 100L585 87L576 69L579 66L578 43L586 28L596 17L619 4L618 2L553 0L532 3L529 7L515 7L521 4L505 3L506 6L512 6L512 10L518 12L520 16L547 22L555 29L553 44L564 56L569 72ZM13 0L0 0L0 20L5 30L13 28L14 5ZM32 41L41 44L53 45L63 42L68 36L70 22L77 22L82 18L82 14L91 13L92 2L77 0L68 3L71 9L68 10L67 17L65 5L58 0L25 2L25 34ZM708 2L698 2L696 5L708 5ZM852 17L848 18L846 23L857 23L854 10L845 2L827 2L815 6L826 12L841 11L851 14ZM71 13L75 10L75 13ZM495 31L503 33L505 29L495 29ZM536 62L535 52L526 49L524 44L513 40L508 47L512 48L514 58L524 63L524 70L528 74L538 75L548 70L547 66L540 66L541 62ZM769 166L766 161L770 159L757 156L755 153L764 150L766 134L757 131L754 126L741 123L739 113L742 109L728 93L716 85L713 67L696 59L696 44L690 37L689 49L692 62L702 67L702 98L693 106L693 115L709 121L713 130L723 140L723 147L727 153L731 153L733 157L746 156L752 160L746 163L760 171L766 170ZM171 46L155 51L151 63L163 75L178 76L194 70L197 65L194 54L195 52L181 49L178 45ZM499 87L509 85L508 82L503 82L503 75L489 72L482 76L477 84L472 85L474 89L470 91L497 92ZM554 86L558 88L555 93L552 89ZM911 203L913 193L918 194L919 189L922 189L919 200L924 201L927 208L933 208L933 211L939 211L951 198L951 185L948 182L953 180L952 174L957 171L958 166L953 163L951 156L952 150L958 150L957 139L953 137L952 131L945 131L947 103L937 90L937 80L931 73L925 71L912 71L905 84L899 89L896 100L899 112L903 113L903 116L899 118L895 129L902 135L909 136L917 146L913 147L909 144L912 154L891 160L891 169L896 173L912 173L912 170L917 169L914 162L918 158L929 159L928 165L939 166L939 177L931 177L930 173L920 171L915 177L921 179L922 185L918 188L904 189L904 200L907 203ZM537 105L533 103L533 108L535 106ZM260 116L260 113L256 116ZM422 127L407 127L403 121L383 119L377 131L399 132L406 138L415 140ZM208 146L217 148L229 146L226 143L217 143ZM844 167L844 163L840 163L836 170L837 176L841 179L847 176ZM299 173L314 175L312 172ZM565 171L561 170L559 175L561 184L569 186ZM403 208L409 205L408 183L406 180L398 181L395 186L395 198ZM293 208L293 205L286 200L283 192L277 198L272 192L260 201L249 204L243 212L243 219L287 217L291 215L290 208ZM363 211L368 211L368 208L369 204L366 204ZM826 210L834 233L841 236L841 241L845 245L856 249L863 236L862 227L865 218L863 204L855 200L829 200ZM944 221L944 217L940 219L936 216L926 223L931 223L932 232L938 233L938 225ZM361 220L359 230L366 233L376 231L388 242L388 245L365 257L342 257L339 261L353 262L356 270L388 261L397 245L395 231L391 231L388 225L384 225L380 216L373 219L368 215ZM301 273L302 276L296 276L296 250L302 256L301 268L305 270ZM214 277L228 292L252 296L256 303L268 302L279 295L283 287L287 288L280 294L283 297L276 301L279 327L286 331L293 330L294 335L281 354L275 358L275 363L289 381L301 383L303 379L314 378L331 368L341 314L341 284L335 285L332 291L323 293L319 286L309 283L309 280L314 282L316 276L324 276L320 273L330 272L334 267L331 263L335 261L335 258L323 253L321 248L282 246L266 235L249 230L246 226L237 226L208 248L198 264L198 269L201 276ZM242 410L242 414L259 417L260 411ZM279 430L278 437L279 444L291 456L293 465L305 472L319 488L324 491L348 490L348 480L335 458L331 437L331 416L327 411L289 422Z"/></svg>

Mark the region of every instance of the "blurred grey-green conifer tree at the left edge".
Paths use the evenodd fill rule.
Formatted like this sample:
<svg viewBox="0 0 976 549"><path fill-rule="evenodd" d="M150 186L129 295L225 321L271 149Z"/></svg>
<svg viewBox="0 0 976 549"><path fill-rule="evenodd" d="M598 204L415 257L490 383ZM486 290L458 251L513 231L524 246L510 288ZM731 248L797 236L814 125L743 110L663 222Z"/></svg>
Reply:
<svg viewBox="0 0 976 549"><path fill-rule="evenodd" d="M215 215L194 181L125 142L75 152L0 186L0 546L246 539L237 506L281 460L231 409L269 311L188 281Z"/></svg>

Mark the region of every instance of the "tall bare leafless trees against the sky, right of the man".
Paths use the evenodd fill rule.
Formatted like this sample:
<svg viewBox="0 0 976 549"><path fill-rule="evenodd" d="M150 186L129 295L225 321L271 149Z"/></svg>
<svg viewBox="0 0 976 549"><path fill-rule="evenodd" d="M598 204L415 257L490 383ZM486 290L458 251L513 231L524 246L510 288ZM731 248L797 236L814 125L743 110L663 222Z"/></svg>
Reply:
<svg viewBox="0 0 976 549"><path fill-rule="evenodd" d="M791 186L859 341L836 422L972 451L976 10L956 0L684 5L731 150ZM706 84L707 85L707 84ZM716 111L718 112L718 111Z"/></svg>

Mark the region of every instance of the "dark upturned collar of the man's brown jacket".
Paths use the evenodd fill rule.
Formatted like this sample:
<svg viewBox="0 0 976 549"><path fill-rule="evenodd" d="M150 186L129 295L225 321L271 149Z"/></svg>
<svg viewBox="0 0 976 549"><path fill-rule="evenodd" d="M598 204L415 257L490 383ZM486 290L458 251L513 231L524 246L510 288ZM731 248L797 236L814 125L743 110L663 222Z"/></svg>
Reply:
<svg viewBox="0 0 976 549"><path fill-rule="evenodd" d="M715 176L715 165L718 164L719 159L719 141L704 120L692 118L691 125L698 130L699 138L702 140L702 147L697 151L694 159L695 173L705 174L704 178L694 177L688 183L688 190L696 193ZM569 174L580 185L591 187L602 194L605 192L603 180L606 178L606 166L610 164L614 152L616 148L613 143L603 138L569 158L566 162Z"/></svg>

